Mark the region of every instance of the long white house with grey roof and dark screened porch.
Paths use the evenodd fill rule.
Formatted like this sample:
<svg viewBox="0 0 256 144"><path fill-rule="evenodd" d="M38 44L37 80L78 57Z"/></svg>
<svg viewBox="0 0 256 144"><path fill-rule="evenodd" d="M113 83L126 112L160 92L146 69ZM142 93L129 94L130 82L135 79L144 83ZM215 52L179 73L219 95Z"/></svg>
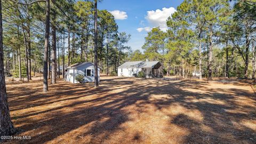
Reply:
<svg viewBox="0 0 256 144"><path fill-rule="evenodd" d="M160 61L129 61L118 67L118 76L133 77L143 71L146 78L163 77L163 65Z"/></svg>

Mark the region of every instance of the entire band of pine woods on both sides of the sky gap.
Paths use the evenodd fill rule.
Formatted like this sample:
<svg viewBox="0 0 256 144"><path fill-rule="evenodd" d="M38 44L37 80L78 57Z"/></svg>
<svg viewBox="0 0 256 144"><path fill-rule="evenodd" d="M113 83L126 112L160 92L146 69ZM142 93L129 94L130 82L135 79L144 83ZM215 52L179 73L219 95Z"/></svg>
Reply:
<svg viewBox="0 0 256 144"><path fill-rule="evenodd" d="M113 15L97 10L97 0L0 0L0 135L15 132L5 74L29 81L43 71L46 92L47 78L56 83L60 65L93 61L109 74L123 61L148 58L185 78L194 68L200 78L255 78L255 10L255 0L185 0L167 20L167 32L148 33L141 53L125 46L130 35L118 33Z"/></svg>

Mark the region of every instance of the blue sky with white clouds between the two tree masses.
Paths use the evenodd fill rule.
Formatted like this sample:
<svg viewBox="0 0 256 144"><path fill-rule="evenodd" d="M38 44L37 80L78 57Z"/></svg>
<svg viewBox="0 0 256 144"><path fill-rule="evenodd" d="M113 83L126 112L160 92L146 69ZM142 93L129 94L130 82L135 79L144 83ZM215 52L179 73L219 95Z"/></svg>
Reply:
<svg viewBox="0 0 256 144"><path fill-rule="evenodd" d="M145 42L147 31L157 26L165 31L165 19L181 3L181 0L103 0L98 3L98 9L112 12L116 18L118 31L131 34L131 40L127 45L131 46L133 51L142 51L141 46Z"/></svg>

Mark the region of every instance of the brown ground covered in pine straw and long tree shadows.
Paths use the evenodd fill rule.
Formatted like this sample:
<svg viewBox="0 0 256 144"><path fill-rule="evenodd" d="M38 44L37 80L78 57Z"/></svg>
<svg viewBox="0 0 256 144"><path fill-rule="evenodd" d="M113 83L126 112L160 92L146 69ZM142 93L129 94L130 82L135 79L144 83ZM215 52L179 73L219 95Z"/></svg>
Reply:
<svg viewBox="0 0 256 144"><path fill-rule="evenodd" d="M244 82L102 77L7 84L17 136L6 143L256 143L256 98Z"/></svg>

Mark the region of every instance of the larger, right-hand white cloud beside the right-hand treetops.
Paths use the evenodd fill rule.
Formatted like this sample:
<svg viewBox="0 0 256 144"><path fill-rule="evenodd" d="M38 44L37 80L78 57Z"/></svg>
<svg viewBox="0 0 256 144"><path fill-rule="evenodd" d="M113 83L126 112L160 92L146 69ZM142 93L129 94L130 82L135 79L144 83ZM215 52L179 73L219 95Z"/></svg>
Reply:
<svg viewBox="0 0 256 144"><path fill-rule="evenodd" d="M153 27L160 27L161 30L166 31L167 25L166 20L171 17L171 15L176 10L174 7L166 8L164 7L162 10L157 9L156 11L147 11L147 16L145 17L146 20L153 26Z"/></svg>

